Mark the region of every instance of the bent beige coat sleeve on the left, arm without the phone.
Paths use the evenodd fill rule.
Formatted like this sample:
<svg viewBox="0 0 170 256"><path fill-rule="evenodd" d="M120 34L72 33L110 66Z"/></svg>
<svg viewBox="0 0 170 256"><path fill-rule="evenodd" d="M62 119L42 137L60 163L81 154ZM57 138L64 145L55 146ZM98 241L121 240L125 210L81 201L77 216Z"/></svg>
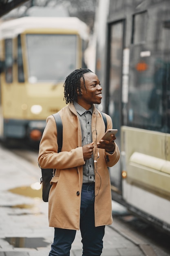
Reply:
<svg viewBox="0 0 170 256"><path fill-rule="evenodd" d="M40 141L38 163L41 168L66 169L84 164L82 147L57 153L57 128L53 116L47 117L46 127Z"/></svg>

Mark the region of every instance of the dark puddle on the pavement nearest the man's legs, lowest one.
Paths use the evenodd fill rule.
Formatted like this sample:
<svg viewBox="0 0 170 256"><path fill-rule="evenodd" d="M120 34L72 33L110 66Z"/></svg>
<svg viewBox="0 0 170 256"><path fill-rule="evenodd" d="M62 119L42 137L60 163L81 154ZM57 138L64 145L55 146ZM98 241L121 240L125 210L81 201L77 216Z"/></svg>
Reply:
<svg viewBox="0 0 170 256"><path fill-rule="evenodd" d="M10 245L17 248L34 248L47 247L51 243L44 241L42 237L6 237L4 238Z"/></svg>

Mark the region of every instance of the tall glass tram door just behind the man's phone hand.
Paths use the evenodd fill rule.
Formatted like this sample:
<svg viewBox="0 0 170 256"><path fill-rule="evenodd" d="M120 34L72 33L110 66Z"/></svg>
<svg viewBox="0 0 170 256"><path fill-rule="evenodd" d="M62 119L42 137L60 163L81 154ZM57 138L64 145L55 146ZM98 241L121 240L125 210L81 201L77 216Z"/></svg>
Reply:
<svg viewBox="0 0 170 256"><path fill-rule="evenodd" d="M121 128L121 73L122 52L124 39L124 21L109 24L108 27L108 57L107 57L107 81L106 81L106 112L113 121L113 128L118 129L116 143L120 148ZM109 168L112 189L121 191L120 161Z"/></svg>

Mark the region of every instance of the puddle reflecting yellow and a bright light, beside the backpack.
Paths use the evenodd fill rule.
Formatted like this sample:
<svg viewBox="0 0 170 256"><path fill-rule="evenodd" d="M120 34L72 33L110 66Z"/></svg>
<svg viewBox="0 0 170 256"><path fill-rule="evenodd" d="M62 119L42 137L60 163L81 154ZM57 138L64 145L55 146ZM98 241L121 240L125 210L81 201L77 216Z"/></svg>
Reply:
<svg viewBox="0 0 170 256"><path fill-rule="evenodd" d="M31 186L20 186L14 189L9 189L8 191L31 198L42 198L42 186L39 182L31 184Z"/></svg>

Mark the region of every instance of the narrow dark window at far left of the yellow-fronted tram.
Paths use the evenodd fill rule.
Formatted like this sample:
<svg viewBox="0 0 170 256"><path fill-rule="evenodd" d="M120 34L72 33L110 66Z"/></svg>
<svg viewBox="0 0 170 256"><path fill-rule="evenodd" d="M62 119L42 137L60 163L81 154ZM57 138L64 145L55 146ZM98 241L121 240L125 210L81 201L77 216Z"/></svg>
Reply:
<svg viewBox="0 0 170 256"><path fill-rule="evenodd" d="M12 83L13 81L12 39L5 39L5 79L7 83Z"/></svg>

